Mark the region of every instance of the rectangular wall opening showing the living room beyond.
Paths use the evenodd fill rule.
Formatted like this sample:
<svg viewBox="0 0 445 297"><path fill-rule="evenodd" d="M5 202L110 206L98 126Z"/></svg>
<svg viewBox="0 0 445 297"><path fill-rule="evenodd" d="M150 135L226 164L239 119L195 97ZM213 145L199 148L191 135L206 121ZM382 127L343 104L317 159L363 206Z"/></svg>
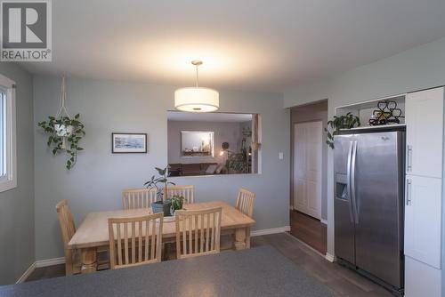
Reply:
<svg viewBox="0 0 445 297"><path fill-rule="evenodd" d="M167 112L170 176L259 173L259 116Z"/></svg>

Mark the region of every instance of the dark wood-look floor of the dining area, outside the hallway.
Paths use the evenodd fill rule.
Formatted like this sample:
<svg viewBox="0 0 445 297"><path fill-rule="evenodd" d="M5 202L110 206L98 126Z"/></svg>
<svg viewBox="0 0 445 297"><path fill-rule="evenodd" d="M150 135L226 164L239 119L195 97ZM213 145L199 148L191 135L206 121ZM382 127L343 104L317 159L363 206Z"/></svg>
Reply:
<svg viewBox="0 0 445 297"><path fill-rule="evenodd" d="M391 297L392 294L368 279L336 263L326 261L320 254L303 245L288 233L252 237L252 247L271 245L300 269L317 278L321 283L340 297ZM64 276L64 265L34 270L27 281ZM296 293L295 293L296 294ZM292 293L289 293L292 295ZM308 296L310 297L310 296Z"/></svg>

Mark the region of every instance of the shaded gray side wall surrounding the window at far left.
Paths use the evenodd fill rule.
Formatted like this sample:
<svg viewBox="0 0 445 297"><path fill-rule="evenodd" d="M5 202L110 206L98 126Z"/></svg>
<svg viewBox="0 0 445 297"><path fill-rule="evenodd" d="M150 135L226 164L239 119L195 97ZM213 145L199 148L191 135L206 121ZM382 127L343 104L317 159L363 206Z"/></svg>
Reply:
<svg viewBox="0 0 445 297"><path fill-rule="evenodd" d="M17 188L0 193L0 285L15 283L35 261L32 76L12 62L0 74L17 84Z"/></svg>

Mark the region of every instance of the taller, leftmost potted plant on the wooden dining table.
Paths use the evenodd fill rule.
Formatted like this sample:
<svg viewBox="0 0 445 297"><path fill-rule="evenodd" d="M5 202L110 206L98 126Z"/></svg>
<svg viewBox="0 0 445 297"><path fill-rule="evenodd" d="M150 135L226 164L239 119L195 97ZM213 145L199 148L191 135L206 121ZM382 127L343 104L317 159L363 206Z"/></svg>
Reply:
<svg viewBox="0 0 445 297"><path fill-rule="evenodd" d="M155 177L155 175L153 175L150 181L145 182L143 185L147 189L157 190L157 200L151 204L153 213L164 213L165 216L169 216L172 203L170 202L170 199L167 199L167 187L168 185L174 185L174 182L168 181L168 166L164 169L158 167L155 167L155 169L159 176ZM166 197L166 199L164 199L164 197Z"/></svg>

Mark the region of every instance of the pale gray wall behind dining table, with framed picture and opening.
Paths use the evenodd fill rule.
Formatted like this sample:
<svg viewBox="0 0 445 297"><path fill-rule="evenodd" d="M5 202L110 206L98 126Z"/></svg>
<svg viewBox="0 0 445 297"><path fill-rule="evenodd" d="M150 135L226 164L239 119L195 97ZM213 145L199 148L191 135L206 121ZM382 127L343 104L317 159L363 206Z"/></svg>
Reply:
<svg viewBox="0 0 445 297"><path fill-rule="evenodd" d="M34 77L34 117L37 121L56 113L60 79ZM55 205L69 200L75 221L86 213L118 209L120 191L141 187L154 166L167 163L166 111L174 109L173 86L131 84L69 78L67 105L85 123L85 148L77 165L67 172L65 158L53 157L45 137L35 135L36 259L61 257L62 244ZM288 225L289 111L282 96L274 93L220 90L220 111L259 113L263 126L263 174L180 177L178 184L193 184L198 201L221 199L234 203L238 189L256 192L255 229ZM111 154L111 132L147 132L149 153ZM279 160L284 152L284 160Z"/></svg>

